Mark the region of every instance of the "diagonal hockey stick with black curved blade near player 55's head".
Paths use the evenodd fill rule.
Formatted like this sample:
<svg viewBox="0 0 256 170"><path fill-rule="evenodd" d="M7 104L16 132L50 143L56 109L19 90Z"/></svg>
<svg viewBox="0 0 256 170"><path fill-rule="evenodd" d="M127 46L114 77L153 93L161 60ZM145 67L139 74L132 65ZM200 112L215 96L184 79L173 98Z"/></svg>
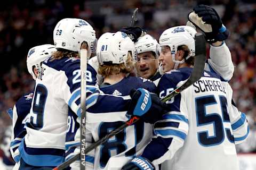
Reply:
<svg viewBox="0 0 256 170"><path fill-rule="evenodd" d="M196 57L195 57L195 64L194 69L188 78L188 80L182 84L182 86L178 87L177 89L173 90L169 95L162 98L162 101L168 101L172 97L177 96L180 94L181 91L185 90L189 86L191 86L193 83L198 81L203 74L204 71L204 64L206 60L206 47L205 47L205 39L202 33L196 33L195 35L195 44L196 44ZM129 121L125 122L122 126L119 128L111 131L108 133L105 137L101 138L97 142L93 143L91 146L86 148L84 150L84 154L87 154L91 150L95 149L96 147L100 146L102 143L106 142L109 138L113 137L114 135L118 134L119 132L123 131L127 126L130 126L134 124L135 122L139 121L139 117L133 116ZM67 162L62 163L60 166L55 167L54 170L61 170L65 167L67 167L69 164L73 163L75 160L79 158L79 154L75 155L73 158L69 159Z"/></svg>

